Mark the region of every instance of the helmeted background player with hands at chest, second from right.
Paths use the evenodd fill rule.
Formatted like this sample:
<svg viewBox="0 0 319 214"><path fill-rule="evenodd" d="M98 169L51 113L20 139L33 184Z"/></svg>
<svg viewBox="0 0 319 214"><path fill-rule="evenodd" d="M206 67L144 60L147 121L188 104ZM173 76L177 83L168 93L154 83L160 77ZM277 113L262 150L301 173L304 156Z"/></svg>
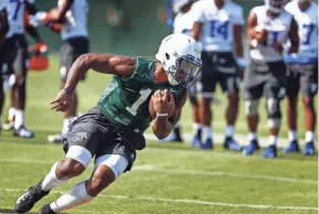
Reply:
<svg viewBox="0 0 319 214"><path fill-rule="evenodd" d="M266 98L268 145L264 158L276 158L281 113L280 100L286 95L286 66L283 61L283 44L289 38L289 53L298 52L298 25L293 15L284 10L285 0L265 0L264 6L251 10L247 19L247 36L251 46L251 63L245 74L244 96L246 119L249 129L249 145L243 154L258 149L257 126L258 103Z"/></svg>

